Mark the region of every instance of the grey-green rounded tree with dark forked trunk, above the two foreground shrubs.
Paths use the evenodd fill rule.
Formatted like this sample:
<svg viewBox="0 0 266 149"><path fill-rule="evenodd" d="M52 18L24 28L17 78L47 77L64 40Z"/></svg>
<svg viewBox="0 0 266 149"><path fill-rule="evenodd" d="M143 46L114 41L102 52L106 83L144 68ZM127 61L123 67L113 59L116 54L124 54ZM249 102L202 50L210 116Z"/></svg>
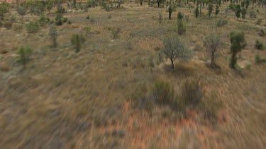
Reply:
<svg viewBox="0 0 266 149"><path fill-rule="evenodd" d="M190 58L190 50L177 35L167 35L162 42L165 46L162 52L170 59L172 68L174 68L174 60L188 60Z"/></svg>

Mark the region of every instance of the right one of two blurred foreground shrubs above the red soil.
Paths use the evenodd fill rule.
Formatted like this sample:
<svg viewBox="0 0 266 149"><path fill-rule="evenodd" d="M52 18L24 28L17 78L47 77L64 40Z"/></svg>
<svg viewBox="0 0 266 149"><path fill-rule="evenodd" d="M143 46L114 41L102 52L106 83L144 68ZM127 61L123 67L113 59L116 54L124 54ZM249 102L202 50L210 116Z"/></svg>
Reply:
<svg viewBox="0 0 266 149"><path fill-rule="evenodd" d="M204 96L201 84L196 79L185 81L181 93L184 105L198 105Z"/></svg>

